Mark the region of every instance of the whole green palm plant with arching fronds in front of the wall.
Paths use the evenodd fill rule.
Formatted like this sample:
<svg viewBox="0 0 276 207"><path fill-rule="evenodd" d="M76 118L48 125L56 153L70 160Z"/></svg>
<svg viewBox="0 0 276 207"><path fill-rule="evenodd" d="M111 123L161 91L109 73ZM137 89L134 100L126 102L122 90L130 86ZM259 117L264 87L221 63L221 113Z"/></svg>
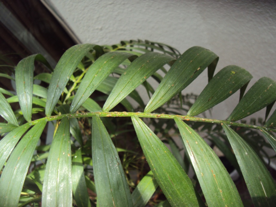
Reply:
<svg viewBox="0 0 276 207"><path fill-rule="evenodd" d="M52 72L34 76L35 62ZM275 205L275 181L262 161L262 147L276 150L276 111L262 125L236 121L264 107L267 117L276 83L263 77L243 96L251 74L230 65L213 77L217 62L218 56L202 47L180 55L168 45L140 40L73 46L54 70L41 55L22 59L15 78L1 75L16 83L16 92L1 88L0 93L6 120L0 130L8 133L0 141L1 206L145 206L154 192L165 200L152 199L151 206L243 206L226 168L197 132L241 173L255 206ZM203 92L182 96L205 68L209 83ZM149 77L160 83L156 90ZM146 106L135 90L139 85L150 97ZM240 101L227 120L195 117L239 89ZM12 109L10 103L17 102L20 107ZM47 145L52 124L54 137ZM183 140L184 159L173 136ZM138 185L131 170L140 176Z"/></svg>

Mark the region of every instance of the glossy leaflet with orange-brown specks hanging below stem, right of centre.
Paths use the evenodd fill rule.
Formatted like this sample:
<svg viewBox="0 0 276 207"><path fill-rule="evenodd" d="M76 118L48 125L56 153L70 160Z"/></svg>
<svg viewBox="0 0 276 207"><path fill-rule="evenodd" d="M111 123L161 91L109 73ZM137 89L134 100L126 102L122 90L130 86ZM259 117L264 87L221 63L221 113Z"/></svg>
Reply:
<svg viewBox="0 0 276 207"><path fill-rule="evenodd" d="M174 120L208 206L243 206L234 182L215 152L181 119Z"/></svg>

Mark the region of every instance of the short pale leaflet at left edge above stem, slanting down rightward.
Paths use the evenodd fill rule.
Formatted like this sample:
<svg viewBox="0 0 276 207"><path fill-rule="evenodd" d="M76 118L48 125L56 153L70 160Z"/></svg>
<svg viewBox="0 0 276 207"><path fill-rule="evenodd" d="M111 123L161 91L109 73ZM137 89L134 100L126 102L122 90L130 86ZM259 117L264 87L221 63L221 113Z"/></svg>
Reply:
<svg viewBox="0 0 276 207"><path fill-rule="evenodd" d="M13 96L12 96L13 97ZM11 98L11 97L10 97ZM19 126L7 99L0 93L0 115L9 123Z"/></svg>

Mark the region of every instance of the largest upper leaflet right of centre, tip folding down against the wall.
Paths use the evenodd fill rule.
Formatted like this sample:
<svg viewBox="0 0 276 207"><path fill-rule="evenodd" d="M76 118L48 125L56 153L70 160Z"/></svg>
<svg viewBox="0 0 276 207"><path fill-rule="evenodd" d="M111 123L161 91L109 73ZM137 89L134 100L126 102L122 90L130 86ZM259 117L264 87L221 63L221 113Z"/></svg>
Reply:
<svg viewBox="0 0 276 207"><path fill-rule="evenodd" d="M186 88L218 56L203 47L191 47L171 66L144 112L152 112Z"/></svg>

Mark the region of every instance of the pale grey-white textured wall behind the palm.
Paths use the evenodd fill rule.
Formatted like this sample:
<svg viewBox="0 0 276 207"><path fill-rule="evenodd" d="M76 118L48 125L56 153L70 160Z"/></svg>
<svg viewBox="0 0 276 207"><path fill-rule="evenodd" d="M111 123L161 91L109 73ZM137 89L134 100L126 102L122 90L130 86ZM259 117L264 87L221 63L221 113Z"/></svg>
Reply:
<svg viewBox="0 0 276 207"><path fill-rule="evenodd" d="M104 45L148 39L181 53L198 45L220 56L217 69L239 65L248 70L254 77L249 86L262 76L276 80L274 0L48 1L82 42ZM184 92L199 94L207 73L200 78ZM215 108L220 113L214 118L229 116L238 101L235 95Z"/></svg>

